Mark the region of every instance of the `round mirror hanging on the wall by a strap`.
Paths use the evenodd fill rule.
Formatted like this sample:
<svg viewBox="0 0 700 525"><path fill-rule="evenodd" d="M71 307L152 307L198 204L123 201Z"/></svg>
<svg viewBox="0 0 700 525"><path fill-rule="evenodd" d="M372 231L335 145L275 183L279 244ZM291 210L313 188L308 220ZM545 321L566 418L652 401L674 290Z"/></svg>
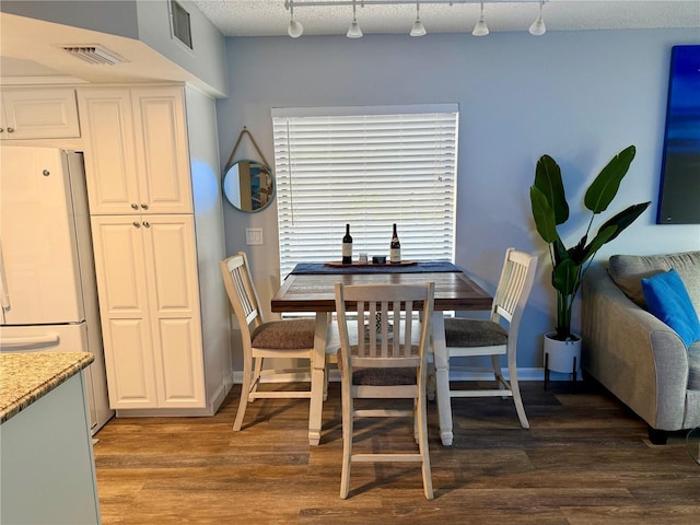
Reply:
<svg viewBox="0 0 700 525"><path fill-rule="evenodd" d="M260 211L275 197L275 178L270 166L242 160L229 165L223 176L223 195L241 211Z"/></svg>

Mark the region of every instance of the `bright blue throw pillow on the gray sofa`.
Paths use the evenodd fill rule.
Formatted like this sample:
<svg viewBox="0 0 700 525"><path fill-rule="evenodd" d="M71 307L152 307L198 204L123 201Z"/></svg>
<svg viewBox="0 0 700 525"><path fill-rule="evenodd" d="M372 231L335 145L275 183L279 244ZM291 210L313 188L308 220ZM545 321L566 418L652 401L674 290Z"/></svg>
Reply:
<svg viewBox="0 0 700 525"><path fill-rule="evenodd" d="M649 312L673 328L686 347L700 340L698 314L676 270L642 279L642 291Z"/></svg>

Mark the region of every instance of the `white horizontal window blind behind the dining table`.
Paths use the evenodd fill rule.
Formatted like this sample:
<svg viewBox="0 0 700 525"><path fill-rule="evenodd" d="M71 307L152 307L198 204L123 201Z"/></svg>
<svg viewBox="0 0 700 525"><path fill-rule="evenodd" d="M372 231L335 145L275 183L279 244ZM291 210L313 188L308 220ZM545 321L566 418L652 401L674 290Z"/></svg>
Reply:
<svg viewBox="0 0 700 525"><path fill-rule="evenodd" d="M456 104L273 109L280 275L298 262L389 253L454 260Z"/></svg>

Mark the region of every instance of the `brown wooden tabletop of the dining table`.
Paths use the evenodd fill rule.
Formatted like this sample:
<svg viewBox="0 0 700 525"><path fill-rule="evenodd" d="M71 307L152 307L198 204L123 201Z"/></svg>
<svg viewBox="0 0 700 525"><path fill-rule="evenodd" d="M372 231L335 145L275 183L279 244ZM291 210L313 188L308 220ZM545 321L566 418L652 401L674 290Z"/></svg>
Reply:
<svg viewBox="0 0 700 525"><path fill-rule="evenodd" d="M272 312L335 312L334 285L435 283L436 311L490 310L493 299L462 272L290 275L271 301Z"/></svg>

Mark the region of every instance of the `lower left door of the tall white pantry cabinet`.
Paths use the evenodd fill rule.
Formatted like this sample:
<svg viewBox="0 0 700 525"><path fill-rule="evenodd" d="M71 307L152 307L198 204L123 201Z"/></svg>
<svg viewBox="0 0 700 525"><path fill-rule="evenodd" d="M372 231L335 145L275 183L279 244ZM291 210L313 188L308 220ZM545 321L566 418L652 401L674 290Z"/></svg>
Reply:
<svg viewBox="0 0 700 525"><path fill-rule="evenodd" d="M93 217L92 231L112 408L158 407L141 218Z"/></svg>

